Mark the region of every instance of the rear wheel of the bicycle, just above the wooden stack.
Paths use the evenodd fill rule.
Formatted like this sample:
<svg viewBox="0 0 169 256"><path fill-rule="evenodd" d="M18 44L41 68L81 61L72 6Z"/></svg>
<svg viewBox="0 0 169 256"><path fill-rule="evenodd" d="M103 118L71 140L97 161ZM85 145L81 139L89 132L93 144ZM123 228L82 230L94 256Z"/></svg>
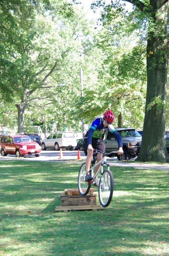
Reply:
<svg viewBox="0 0 169 256"><path fill-rule="evenodd" d="M90 190L91 183L85 181L86 177L86 164L82 164L78 175L78 189L82 196L86 196Z"/></svg>

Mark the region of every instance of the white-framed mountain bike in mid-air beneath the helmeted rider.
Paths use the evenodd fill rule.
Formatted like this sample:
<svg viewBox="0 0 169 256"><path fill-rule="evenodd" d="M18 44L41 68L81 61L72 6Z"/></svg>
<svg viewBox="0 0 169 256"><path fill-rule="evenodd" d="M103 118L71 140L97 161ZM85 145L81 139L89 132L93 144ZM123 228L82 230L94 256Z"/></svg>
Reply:
<svg viewBox="0 0 169 256"><path fill-rule="evenodd" d="M78 175L78 189L82 196L86 196L90 190L92 183L95 181L95 178L97 177L98 173L101 170L101 177L99 182L99 201L103 207L107 207L110 204L113 196L114 182L113 182L113 175L109 167L110 165L107 164L106 162L106 157L110 154L117 153L117 152L112 151L110 153L103 153L102 151L96 149L95 155L97 155L97 153L102 153L103 158L97 164L95 164L95 160L91 162L91 166L90 166L91 168L89 170L89 173L93 177L93 180L90 180L89 182L85 181L86 163L83 163L81 165L79 175ZM93 170L99 164L101 164L101 166L99 167L97 173L93 176ZM104 165L107 165L108 168L103 170Z"/></svg>

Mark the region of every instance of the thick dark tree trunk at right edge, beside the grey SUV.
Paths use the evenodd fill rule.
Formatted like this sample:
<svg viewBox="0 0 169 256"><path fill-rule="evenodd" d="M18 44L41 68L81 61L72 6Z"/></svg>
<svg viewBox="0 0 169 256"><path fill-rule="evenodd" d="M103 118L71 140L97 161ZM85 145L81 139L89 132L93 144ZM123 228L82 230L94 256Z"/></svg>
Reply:
<svg viewBox="0 0 169 256"><path fill-rule="evenodd" d="M165 144L165 100L169 53L166 36L168 3L162 6L162 2L164 0L150 0L152 11L147 41L147 95L144 133L140 154L137 158L143 162L169 161ZM160 6L162 7L159 8Z"/></svg>

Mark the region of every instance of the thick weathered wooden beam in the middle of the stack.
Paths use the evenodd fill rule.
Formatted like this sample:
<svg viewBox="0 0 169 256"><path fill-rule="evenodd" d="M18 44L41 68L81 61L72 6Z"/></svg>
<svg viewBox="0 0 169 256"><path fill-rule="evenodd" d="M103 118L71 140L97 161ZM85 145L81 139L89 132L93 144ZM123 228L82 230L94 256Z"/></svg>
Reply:
<svg viewBox="0 0 169 256"><path fill-rule="evenodd" d="M70 205L96 205L96 197L62 197L61 198L62 206Z"/></svg>

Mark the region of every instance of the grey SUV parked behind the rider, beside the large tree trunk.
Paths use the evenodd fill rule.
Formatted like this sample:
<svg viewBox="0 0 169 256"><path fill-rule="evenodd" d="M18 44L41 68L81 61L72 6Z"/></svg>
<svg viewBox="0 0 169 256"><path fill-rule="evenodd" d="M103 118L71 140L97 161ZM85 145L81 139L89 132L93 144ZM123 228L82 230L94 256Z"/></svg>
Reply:
<svg viewBox="0 0 169 256"><path fill-rule="evenodd" d="M120 133L123 143L123 155L113 154L117 156L119 161L130 160L130 158L138 156L141 147L142 136L133 128L116 128ZM106 152L117 151L118 143L111 132L106 132L103 143L106 147Z"/></svg>

